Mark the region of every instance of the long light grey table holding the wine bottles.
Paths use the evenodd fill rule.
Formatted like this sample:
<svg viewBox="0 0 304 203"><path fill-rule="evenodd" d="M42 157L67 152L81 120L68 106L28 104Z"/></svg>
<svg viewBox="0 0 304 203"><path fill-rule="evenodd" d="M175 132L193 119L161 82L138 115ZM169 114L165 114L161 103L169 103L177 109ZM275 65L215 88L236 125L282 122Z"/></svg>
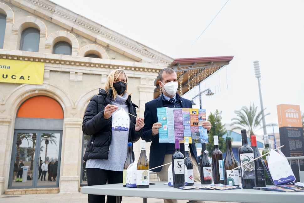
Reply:
<svg viewBox="0 0 304 203"><path fill-rule="evenodd" d="M304 192L273 192L263 190L181 190L164 185L165 182L155 182L149 188L127 188L122 184L107 184L81 187L81 193L92 195L113 195L128 197L205 200L242 203L304 203ZM200 183L194 185L201 186ZM119 202L119 201L118 201ZM191 201L192 202L192 201Z"/></svg>

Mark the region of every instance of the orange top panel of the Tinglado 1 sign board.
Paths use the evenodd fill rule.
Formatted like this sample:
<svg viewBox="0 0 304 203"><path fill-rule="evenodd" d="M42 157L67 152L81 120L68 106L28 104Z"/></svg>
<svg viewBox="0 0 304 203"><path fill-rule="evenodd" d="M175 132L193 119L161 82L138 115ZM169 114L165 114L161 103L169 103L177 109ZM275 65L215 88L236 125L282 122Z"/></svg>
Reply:
<svg viewBox="0 0 304 203"><path fill-rule="evenodd" d="M279 127L302 127L299 105L277 105Z"/></svg>

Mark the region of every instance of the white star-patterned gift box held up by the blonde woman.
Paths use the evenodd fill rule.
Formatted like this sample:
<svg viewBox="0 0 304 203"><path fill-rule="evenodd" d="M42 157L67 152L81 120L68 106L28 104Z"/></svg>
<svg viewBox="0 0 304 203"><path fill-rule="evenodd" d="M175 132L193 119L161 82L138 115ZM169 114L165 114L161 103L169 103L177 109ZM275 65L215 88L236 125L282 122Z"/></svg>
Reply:
<svg viewBox="0 0 304 203"><path fill-rule="evenodd" d="M112 115L112 130L128 131L129 119L127 112L124 109L119 109L114 115Z"/></svg>

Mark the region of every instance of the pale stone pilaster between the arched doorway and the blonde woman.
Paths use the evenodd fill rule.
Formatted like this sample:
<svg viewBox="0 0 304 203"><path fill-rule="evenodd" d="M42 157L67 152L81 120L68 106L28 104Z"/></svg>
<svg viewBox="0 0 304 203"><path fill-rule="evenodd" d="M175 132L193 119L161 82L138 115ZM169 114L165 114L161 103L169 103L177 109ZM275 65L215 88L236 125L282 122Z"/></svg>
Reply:
<svg viewBox="0 0 304 203"><path fill-rule="evenodd" d="M82 143L81 124L81 118L64 119L60 160L62 164L60 167L60 192L79 192Z"/></svg>

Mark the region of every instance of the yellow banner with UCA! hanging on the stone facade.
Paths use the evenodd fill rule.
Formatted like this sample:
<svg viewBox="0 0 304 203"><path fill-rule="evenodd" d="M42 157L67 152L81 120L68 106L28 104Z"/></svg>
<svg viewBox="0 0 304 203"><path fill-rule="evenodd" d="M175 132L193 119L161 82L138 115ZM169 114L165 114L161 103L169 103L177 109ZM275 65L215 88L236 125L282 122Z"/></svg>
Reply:
<svg viewBox="0 0 304 203"><path fill-rule="evenodd" d="M0 82L42 85L45 63L0 59Z"/></svg>

